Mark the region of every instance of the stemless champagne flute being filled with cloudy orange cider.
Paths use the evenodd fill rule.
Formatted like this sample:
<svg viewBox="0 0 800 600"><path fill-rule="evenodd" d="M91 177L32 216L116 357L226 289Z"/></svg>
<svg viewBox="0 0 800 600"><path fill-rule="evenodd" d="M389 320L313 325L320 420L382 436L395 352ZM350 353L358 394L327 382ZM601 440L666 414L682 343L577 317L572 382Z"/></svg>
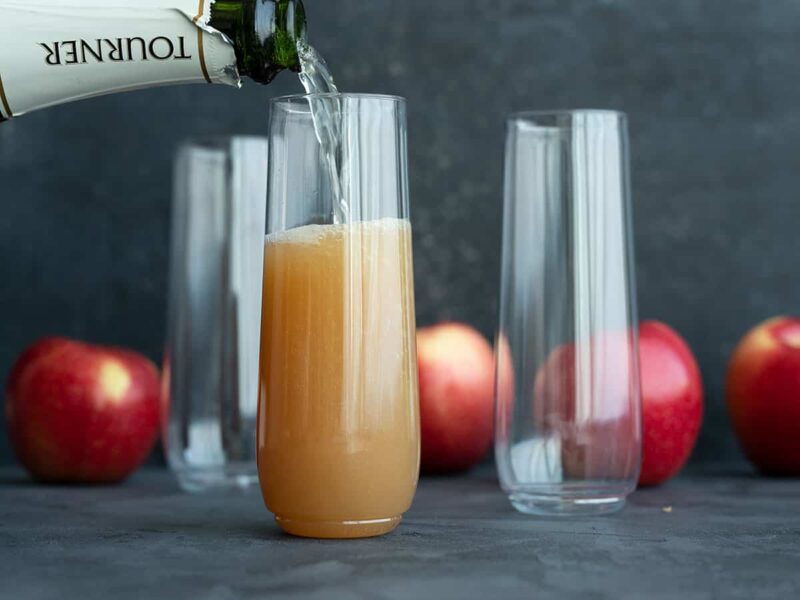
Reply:
<svg viewBox="0 0 800 600"><path fill-rule="evenodd" d="M264 501L291 534L386 533L419 471L404 100L273 100L267 198Z"/></svg>

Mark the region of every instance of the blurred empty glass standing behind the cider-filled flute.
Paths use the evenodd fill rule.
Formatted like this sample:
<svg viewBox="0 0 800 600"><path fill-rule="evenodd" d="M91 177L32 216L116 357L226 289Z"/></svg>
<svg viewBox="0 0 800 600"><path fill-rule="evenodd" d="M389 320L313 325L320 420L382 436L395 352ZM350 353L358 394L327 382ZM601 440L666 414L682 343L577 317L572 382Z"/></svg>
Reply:
<svg viewBox="0 0 800 600"><path fill-rule="evenodd" d="M178 150L162 440L188 491L247 487L255 463L266 139Z"/></svg>

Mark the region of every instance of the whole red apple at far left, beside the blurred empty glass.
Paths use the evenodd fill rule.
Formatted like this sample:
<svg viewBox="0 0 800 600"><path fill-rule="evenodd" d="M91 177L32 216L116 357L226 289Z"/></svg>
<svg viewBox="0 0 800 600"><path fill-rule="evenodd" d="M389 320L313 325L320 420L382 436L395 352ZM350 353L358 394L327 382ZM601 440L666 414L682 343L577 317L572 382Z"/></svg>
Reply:
<svg viewBox="0 0 800 600"><path fill-rule="evenodd" d="M36 479L119 481L156 440L158 370L128 350L44 338L11 370L6 419L14 451Z"/></svg>

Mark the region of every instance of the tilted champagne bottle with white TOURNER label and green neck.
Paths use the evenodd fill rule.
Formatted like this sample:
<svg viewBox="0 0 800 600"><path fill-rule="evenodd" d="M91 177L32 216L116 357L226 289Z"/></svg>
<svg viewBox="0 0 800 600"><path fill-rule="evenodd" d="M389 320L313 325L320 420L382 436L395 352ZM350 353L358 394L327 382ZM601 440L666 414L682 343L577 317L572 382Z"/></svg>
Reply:
<svg viewBox="0 0 800 600"><path fill-rule="evenodd" d="M0 121L134 89L300 70L301 0L0 0Z"/></svg>

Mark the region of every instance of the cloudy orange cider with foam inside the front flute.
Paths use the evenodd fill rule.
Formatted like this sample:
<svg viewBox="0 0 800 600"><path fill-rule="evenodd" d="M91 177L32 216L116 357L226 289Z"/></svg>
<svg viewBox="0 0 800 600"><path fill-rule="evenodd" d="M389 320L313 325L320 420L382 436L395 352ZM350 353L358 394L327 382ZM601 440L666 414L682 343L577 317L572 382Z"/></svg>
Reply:
<svg viewBox="0 0 800 600"><path fill-rule="evenodd" d="M267 236L258 474L281 528L394 529L419 473L411 226L307 225Z"/></svg>

